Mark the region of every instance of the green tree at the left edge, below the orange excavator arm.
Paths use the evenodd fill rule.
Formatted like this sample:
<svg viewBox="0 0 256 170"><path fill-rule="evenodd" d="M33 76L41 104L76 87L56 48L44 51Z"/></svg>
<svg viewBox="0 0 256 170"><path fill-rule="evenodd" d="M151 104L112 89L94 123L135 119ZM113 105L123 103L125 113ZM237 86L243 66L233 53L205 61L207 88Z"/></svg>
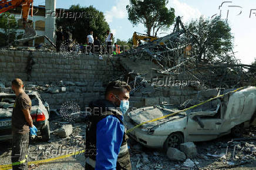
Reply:
<svg viewBox="0 0 256 170"><path fill-rule="evenodd" d="M14 42L16 38L17 22L9 12L0 15L0 46L6 46L9 42Z"/></svg>

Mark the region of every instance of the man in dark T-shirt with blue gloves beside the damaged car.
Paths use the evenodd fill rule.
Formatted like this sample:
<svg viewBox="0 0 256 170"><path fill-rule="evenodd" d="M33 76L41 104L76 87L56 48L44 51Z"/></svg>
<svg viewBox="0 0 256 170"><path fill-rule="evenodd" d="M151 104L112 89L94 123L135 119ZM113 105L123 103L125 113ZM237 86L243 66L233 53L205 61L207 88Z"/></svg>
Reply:
<svg viewBox="0 0 256 170"><path fill-rule="evenodd" d="M12 80L12 90L16 95L14 109L12 110L12 169L28 169L28 143L29 131L36 135L38 131L33 125L31 112L31 99L25 93L21 79Z"/></svg>

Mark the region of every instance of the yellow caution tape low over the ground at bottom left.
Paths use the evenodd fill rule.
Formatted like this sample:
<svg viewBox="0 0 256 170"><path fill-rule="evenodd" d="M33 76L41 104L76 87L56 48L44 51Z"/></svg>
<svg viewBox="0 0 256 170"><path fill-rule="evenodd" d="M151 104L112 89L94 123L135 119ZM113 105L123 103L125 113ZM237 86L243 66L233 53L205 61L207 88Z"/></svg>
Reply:
<svg viewBox="0 0 256 170"><path fill-rule="evenodd" d="M57 159L68 158L68 157L71 157L72 155L79 155L79 154L82 154L83 152L85 152L85 150L73 152L72 154L68 154L68 155L61 155L61 156L56 157L56 158L43 159L43 160L40 160L40 161L31 161L31 162L28 162L28 165L31 165L31 164L43 164L43 163L46 163L46 162L55 161ZM23 163L24 162L22 162L22 163L19 162L19 164L23 164ZM19 165L19 164L15 164L15 165ZM11 169L11 168L12 168L12 164L0 165L0 170Z"/></svg>

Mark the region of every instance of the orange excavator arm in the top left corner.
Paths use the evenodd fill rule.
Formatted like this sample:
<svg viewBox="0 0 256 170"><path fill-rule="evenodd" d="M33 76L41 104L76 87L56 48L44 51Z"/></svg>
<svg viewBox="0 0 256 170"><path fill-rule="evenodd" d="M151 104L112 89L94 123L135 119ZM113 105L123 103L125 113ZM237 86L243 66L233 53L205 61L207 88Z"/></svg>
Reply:
<svg viewBox="0 0 256 170"><path fill-rule="evenodd" d="M17 6L22 6L23 22L28 22L29 8L31 8L31 16L33 16L33 0L0 0L0 13Z"/></svg>

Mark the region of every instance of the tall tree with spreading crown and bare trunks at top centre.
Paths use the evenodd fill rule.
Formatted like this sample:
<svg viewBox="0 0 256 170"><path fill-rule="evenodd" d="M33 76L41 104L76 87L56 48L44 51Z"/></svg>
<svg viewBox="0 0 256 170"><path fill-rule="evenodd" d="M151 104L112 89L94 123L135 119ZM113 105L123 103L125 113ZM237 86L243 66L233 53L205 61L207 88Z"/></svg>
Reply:
<svg viewBox="0 0 256 170"><path fill-rule="evenodd" d="M147 35L157 36L160 29L166 29L174 22L174 9L168 9L167 0L130 0L130 5L126 6L128 19L133 26L143 23L146 27Z"/></svg>

